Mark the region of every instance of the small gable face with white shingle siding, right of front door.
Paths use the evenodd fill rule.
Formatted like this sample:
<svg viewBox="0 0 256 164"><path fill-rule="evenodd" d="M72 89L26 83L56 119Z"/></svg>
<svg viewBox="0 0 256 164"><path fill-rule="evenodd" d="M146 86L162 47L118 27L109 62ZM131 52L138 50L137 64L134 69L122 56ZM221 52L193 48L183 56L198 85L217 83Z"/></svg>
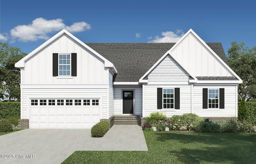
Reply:
<svg viewBox="0 0 256 164"><path fill-rule="evenodd" d="M148 74L148 82L153 81L186 81L188 82L189 75L174 59L167 55L162 62L158 64Z"/></svg>

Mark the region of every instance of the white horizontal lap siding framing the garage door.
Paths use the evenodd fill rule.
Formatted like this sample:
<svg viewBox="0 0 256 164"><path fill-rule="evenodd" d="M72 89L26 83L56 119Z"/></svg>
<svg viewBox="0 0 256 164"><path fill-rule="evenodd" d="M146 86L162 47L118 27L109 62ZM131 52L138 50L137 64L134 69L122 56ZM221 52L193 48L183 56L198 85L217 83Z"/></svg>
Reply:
<svg viewBox="0 0 256 164"><path fill-rule="evenodd" d="M29 119L29 99L101 98L102 118L107 119L107 89L25 89L23 88L22 119Z"/></svg>

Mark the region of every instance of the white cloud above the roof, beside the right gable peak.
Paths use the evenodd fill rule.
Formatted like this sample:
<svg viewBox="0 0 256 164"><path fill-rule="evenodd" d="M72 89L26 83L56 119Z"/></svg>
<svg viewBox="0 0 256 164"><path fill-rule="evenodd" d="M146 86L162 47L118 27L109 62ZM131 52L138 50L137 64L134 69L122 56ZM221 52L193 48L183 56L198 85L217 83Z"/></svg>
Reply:
<svg viewBox="0 0 256 164"><path fill-rule="evenodd" d="M148 41L149 43L176 43L184 35L182 29L177 29L176 33L173 31L162 32L163 37L155 36L153 40ZM152 37L148 37L152 39Z"/></svg>

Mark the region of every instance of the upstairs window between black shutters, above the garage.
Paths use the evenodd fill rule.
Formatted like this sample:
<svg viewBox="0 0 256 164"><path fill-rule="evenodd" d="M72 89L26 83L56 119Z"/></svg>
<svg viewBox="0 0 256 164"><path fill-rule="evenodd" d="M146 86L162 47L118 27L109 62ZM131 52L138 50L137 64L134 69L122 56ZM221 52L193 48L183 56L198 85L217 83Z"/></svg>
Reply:
<svg viewBox="0 0 256 164"><path fill-rule="evenodd" d="M59 76L70 76L70 54L59 54Z"/></svg>

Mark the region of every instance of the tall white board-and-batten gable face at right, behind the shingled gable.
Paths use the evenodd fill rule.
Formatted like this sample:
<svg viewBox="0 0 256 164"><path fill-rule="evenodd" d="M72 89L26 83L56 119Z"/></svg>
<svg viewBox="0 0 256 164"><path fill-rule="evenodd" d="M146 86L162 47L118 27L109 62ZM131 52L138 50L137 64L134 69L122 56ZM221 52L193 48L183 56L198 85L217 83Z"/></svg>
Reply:
<svg viewBox="0 0 256 164"><path fill-rule="evenodd" d="M201 43L192 33L189 33L172 51L170 55L189 70L192 76L203 77L233 77L223 61L216 58L211 50Z"/></svg>

